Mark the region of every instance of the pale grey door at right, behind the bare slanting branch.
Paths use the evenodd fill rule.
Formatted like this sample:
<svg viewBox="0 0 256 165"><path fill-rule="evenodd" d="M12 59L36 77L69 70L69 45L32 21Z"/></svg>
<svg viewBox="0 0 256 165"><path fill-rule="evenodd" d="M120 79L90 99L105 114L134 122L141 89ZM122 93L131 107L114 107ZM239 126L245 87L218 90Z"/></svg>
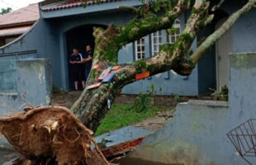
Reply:
<svg viewBox="0 0 256 165"><path fill-rule="evenodd" d="M217 24L216 29L227 20L222 18ZM227 31L220 40L216 42L216 86L217 88L229 85L229 54L232 52L232 35Z"/></svg>

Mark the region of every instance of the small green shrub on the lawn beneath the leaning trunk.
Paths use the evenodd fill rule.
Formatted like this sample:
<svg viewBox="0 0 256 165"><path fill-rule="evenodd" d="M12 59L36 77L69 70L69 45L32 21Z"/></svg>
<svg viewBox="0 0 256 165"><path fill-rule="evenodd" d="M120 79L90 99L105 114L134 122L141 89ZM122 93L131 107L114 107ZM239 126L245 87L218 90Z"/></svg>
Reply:
<svg viewBox="0 0 256 165"><path fill-rule="evenodd" d="M145 112L149 110L149 106L154 102L154 85L151 85L151 90L146 93L140 93L136 97L134 103L127 109L128 111Z"/></svg>

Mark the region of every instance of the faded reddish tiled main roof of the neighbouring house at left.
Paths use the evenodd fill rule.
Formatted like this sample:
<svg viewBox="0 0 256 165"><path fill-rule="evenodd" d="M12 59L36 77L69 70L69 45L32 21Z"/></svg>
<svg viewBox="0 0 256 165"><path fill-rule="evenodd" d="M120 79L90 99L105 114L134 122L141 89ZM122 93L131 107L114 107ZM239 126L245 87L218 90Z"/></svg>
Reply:
<svg viewBox="0 0 256 165"><path fill-rule="evenodd" d="M0 28L33 24L39 17L38 3L31 4L0 16Z"/></svg>

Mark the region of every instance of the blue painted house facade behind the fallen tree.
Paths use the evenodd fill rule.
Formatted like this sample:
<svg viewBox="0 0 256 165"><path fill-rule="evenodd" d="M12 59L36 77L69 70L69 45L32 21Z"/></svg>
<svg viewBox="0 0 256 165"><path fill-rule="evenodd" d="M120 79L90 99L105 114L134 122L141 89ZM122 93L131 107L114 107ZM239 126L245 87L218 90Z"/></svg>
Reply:
<svg viewBox="0 0 256 165"><path fill-rule="evenodd" d="M84 25L104 25L108 26L111 23L123 25L130 21L132 15L127 12L116 10L119 5L139 5L137 0L125 0L121 2L104 3L101 6L89 6L86 9L83 7L73 7L55 12L40 12L41 19L36 25L22 35L19 39L13 41L10 45L0 48L0 59L31 59L31 58L46 58L50 59L53 64L53 80L56 87L60 89L69 89L69 74L68 74L68 52L66 43L66 32L78 26ZM239 7L238 4L227 4L223 10L229 14ZM68 12L69 11L69 12ZM255 10L248 15L239 19L232 29L234 52L238 51L253 51L255 32ZM187 19L187 14L179 17L182 27ZM206 30L203 33L211 32ZM256 34L255 34L256 35ZM86 37L86 36L85 36ZM146 57L151 55L150 37L146 37ZM192 50L196 49L197 42L192 45ZM27 50L36 50L33 53L27 53ZM123 93L137 94L146 92L147 89L154 84L155 92L159 95L187 95L196 96L208 92L208 87L216 85L215 73L215 52L210 50L199 62L197 68L194 69L192 75L187 77L179 76L172 71L162 73L153 78L148 78L140 82L135 82L123 89ZM22 55L7 53L23 52ZM4 56L3 56L4 55ZM134 44L129 44L124 47L119 53L119 62L126 63L134 61ZM209 68L204 69L204 68Z"/></svg>

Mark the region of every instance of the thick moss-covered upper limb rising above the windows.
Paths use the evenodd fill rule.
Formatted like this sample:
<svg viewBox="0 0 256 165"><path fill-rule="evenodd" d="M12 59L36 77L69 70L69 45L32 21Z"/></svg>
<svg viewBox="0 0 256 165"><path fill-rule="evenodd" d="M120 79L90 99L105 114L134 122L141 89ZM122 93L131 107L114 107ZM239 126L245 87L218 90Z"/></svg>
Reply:
<svg viewBox="0 0 256 165"><path fill-rule="evenodd" d="M185 10L191 0L178 0L170 3L170 10L164 16L157 16L153 12L143 12L141 16L135 16L125 26L108 26L106 31L94 35L96 38L95 61L108 61L117 64L118 51L130 42L139 40L141 37L152 32L168 29L173 26L175 19ZM140 10L143 10L141 7ZM141 11L140 11L141 12Z"/></svg>

